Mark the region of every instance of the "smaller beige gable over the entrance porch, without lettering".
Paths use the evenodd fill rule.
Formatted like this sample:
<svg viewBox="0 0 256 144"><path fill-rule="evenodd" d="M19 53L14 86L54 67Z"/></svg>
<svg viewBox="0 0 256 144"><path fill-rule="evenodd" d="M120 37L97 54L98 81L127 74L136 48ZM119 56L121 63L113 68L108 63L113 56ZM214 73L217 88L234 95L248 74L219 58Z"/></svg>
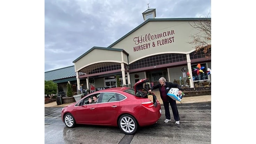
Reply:
<svg viewBox="0 0 256 144"><path fill-rule="evenodd" d="M90 51L90 53L83 56L77 62L74 63L75 71L79 71L83 67L100 62L122 63L122 54L123 62L127 64L127 56L121 51L93 49L92 51Z"/></svg>

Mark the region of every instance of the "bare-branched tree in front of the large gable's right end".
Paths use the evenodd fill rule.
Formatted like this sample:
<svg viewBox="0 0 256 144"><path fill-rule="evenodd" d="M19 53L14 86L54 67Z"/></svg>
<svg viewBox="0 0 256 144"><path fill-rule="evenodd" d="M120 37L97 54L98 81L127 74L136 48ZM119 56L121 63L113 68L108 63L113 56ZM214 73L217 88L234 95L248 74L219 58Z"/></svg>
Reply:
<svg viewBox="0 0 256 144"><path fill-rule="evenodd" d="M198 33L192 34L190 44L194 45L195 51L203 49L206 56L209 56L208 49L211 48L211 18L210 13L205 18L198 21L189 22L190 26L198 30Z"/></svg>

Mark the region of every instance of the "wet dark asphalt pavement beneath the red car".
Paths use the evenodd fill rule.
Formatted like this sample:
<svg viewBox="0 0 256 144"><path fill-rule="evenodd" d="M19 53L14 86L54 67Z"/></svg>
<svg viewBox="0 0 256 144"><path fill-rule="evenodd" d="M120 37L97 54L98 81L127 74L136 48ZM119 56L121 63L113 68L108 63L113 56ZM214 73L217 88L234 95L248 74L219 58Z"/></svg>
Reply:
<svg viewBox="0 0 256 144"><path fill-rule="evenodd" d="M67 128L61 120L62 107L45 107L45 144L210 144L211 102L177 104L180 124L165 123L165 111L152 126L138 128L134 135L118 127L77 125ZM170 108L171 111L171 108Z"/></svg>

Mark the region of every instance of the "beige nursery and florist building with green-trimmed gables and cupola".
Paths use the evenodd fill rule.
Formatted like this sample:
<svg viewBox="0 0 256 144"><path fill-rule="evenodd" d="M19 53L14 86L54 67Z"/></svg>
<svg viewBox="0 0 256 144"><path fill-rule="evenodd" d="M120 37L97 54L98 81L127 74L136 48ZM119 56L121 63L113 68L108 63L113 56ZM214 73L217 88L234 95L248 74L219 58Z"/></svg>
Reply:
<svg viewBox="0 0 256 144"><path fill-rule="evenodd" d="M194 87L194 82L211 82L206 72L211 69L211 56L195 51L189 43L191 36L199 32L190 23L210 18L155 18L155 9L142 15L142 24L110 46L92 47L75 59L73 66L45 72L45 80L53 80L58 91L65 92L68 81L74 92L117 87L116 75L120 76L121 86L126 87L133 87L143 78L149 79L150 86L158 83L160 77L190 87ZM198 64L205 67L199 74L193 69Z"/></svg>

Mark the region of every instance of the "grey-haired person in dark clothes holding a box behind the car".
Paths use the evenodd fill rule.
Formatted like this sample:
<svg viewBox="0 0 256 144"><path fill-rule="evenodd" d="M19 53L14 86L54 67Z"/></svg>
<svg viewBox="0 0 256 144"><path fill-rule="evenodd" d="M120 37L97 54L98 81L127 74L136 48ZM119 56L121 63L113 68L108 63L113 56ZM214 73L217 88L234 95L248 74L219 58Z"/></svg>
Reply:
<svg viewBox="0 0 256 144"><path fill-rule="evenodd" d="M176 121L175 124L179 124L179 112L177 108L176 101L172 98L170 98L167 93L169 92L170 88L178 88L179 89L179 95L182 93L182 88L177 83L172 82L166 82L166 79L161 77L159 79L159 83L157 85L154 85L150 88L149 92L151 93L154 89L159 89L160 91L160 97L163 101L163 106L165 107L165 118L166 120L164 122L170 122L171 121L171 115L169 110L169 104L171 105L171 110L173 111L173 117Z"/></svg>

